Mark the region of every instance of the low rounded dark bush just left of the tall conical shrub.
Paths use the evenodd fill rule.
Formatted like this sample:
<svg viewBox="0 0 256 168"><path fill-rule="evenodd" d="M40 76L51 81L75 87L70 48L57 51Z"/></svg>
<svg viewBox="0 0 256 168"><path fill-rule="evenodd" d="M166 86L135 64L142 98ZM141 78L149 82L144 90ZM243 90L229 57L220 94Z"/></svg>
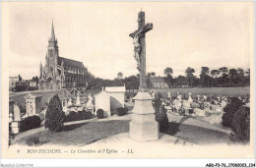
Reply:
<svg viewBox="0 0 256 168"><path fill-rule="evenodd" d="M25 132L40 127L41 120L38 116L29 116L21 121L20 131Z"/></svg>

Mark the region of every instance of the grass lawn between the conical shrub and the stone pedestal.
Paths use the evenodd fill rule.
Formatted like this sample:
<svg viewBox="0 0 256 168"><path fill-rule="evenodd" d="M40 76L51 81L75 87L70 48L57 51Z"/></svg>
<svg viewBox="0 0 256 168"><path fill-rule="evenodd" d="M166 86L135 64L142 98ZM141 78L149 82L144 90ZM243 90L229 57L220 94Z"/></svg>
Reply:
<svg viewBox="0 0 256 168"><path fill-rule="evenodd" d="M129 132L128 120L110 120L65 126L60 133L51 133L45 130L32 136L38 136L40 142L43 144L82 146L96 140L127 132ZM18 140L17 143L27 145L26 140L29 137Z"/></svg>

